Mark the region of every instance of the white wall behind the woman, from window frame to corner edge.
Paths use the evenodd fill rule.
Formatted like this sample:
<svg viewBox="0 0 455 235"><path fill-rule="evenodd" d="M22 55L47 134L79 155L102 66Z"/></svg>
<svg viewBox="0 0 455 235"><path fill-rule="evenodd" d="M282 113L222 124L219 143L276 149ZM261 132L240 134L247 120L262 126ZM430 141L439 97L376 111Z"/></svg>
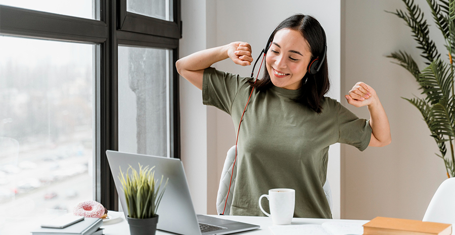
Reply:
<svg viewBox="0 0 455 235"><path fill-rule="evenodd" d="M340 100L340 2L339 1L182 1L183 38L180 57L193 52L246 41L256 59L271 31L295 13L314 16L325 28L332 87L329 95ZM259 66L259 65L257 65ZM249 76L252 66L241 67L225 60L217 69ZM180 79L182 159L189 175L195 207L216 214L215 202L219 177L226 152L235 145L231 117L213 107L202 106L202 93ZM198 112L196 113L195 110ZM340 217L340 147L329 152L329 180L332 186L334 218ZM207 169L201 171L200 169ZM205 183L205 184L204 184ZM205 205L203 205L203 201Z"/></svg>

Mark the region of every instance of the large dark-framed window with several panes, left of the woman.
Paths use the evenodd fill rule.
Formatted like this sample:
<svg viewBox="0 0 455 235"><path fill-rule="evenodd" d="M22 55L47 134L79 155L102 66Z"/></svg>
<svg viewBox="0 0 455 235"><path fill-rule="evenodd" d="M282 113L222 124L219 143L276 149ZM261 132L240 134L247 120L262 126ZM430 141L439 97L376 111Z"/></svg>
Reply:
<svg viewBox="0 0 455 235"><path fill-rule="evenodd" d="M106 150L180 157L179 1L73 2L0 0L0 234L117 210Z"/></svg>

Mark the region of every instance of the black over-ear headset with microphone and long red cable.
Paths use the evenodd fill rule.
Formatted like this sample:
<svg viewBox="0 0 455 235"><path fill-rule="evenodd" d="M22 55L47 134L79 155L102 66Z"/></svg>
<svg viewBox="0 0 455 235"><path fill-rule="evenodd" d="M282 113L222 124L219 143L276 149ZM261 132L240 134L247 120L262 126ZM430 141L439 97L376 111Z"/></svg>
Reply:
<svg viewBox="0 0 455 235"><path fill-rule="evenodd" d="M321 70L322 65L324 64L324 60L326 60L326 54L327 54L327 38L326 38L326 32L324 31L324 29L323 29L323 35L324 35L324 49L323 49L323 53L320 54L319 56L317 56L316 58L311 59L311 62L308 63L308 67L307 67L307 69L306 69L307 72L308 72L309 74L311 74L311 75L314 75L314 74L318 73L318 72ZM274 39L274 36L275 36L275 34L272 33L272 34L270 34L270 36L268 37L267 44L265 45L265 48L262 49L261 53L260 53L259 56L257 57L256 62L254 62L253 70L251 71L251 77L253 77L254 67L256 67L256 64L257 64L257 62L259 61L259 58L262 56L262 54L264 54L264 56L262 57L261 65L259 66L259 68L262 67L262 62L264 61L265 55L267 54L268 50L270 49L270 46L271 46L271 44L272 44L272 40ZM321 56L321 58L320 58L320 56ZM256 81L257 81L257 77L258 77L258 76L259 76L259 73L257 73L257 75L256 75L256 79L254 80L254 84L256 84ZM306 81L305 81L305 82L306 82ZM239 140L240 125L242 124L243 115L245 114L246 107L248 106L248 103L250 102L250 98L251 98L251 95L252 95L252 93L253 93L253 90L254 90L254 86L253 86L253 88L251 89L250 96L248 97L248 101L247 101L247 103L246 103L246 105L245 105L245 109L243 110L242 117L240 118L239 129L237 130L237 139L236 139L236 158L234 159L234 164L232 165L231 181L230 181L230 183L229 183L228 195L226 196L226 201L224 202L223 213L221 213L220 215L224 215L224 211L226 210L226 205L228 204L228 197L229 197L229 193L230 193L230 191L231 191L232 175L234 174L234 166L236 165L236 161L237 161L237 141Z"/></svg>

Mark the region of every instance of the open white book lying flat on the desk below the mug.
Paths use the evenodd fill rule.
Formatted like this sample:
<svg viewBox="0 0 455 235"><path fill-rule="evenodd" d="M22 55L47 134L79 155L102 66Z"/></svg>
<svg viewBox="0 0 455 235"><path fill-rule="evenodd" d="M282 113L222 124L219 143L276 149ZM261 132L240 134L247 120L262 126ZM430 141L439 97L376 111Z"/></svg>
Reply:
<svg viewBox="0 0 455 235"><path fill-rule="evenodd" d="M329 221L323 224L274 225L268 227L274 235L361 235L361 223Z"/></svg>

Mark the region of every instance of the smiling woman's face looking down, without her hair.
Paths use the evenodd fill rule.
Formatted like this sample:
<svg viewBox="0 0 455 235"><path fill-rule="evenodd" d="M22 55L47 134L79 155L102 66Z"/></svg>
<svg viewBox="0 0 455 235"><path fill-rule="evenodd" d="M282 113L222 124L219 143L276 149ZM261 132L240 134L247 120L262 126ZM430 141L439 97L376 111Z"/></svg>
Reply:
<svg viewBox="0 0 455 235"><path fill-rule="evenodd" d="M265 56L265 66L275 86L296 90L302 86L310 59L310 48L302 34L284 28L275 34Z"/></svg>

